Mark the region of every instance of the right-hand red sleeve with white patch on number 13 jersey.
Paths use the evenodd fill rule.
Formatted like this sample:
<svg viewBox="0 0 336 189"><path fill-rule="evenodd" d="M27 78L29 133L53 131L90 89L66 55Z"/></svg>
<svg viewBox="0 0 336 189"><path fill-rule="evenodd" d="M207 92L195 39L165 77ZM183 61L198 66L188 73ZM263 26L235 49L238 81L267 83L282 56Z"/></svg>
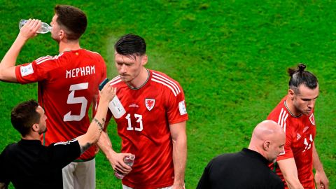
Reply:
<svg viewBox="0 0 336 189"><path fill-rule="evenodd" d="M167 100L167 116L170 125L188 120L183 89L179 83L174 83L174 86L176 89L169 90L170 93Z"/></svg>

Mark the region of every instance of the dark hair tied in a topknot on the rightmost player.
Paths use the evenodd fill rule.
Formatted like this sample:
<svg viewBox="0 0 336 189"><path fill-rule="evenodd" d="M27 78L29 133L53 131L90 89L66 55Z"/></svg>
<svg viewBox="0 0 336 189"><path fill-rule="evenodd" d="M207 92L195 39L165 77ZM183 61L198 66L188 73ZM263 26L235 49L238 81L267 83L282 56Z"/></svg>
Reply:
<svg viewBox="0 0 336 189"><path fill-rule="evenodd" d="M297 69L288 69L288 74L290 76L288 85L295 93L299 92L299 86L302 84L311 90L314 90L318 85L316 76L309 71L304 71L305 68L306 65L300 63L297 65Z"/></svg>

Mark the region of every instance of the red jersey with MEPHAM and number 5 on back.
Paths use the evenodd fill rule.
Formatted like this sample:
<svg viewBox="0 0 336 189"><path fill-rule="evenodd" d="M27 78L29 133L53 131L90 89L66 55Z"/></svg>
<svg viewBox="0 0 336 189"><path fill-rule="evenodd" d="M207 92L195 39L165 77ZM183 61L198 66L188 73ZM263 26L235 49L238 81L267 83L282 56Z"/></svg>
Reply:
<svg viewBox="0 0 336 189"><path fill-rule="evenodd" d="M19 65L15 73L19 83L38 82L38 103L48 118L48 131L41 136L46 146L85 134L90 125L87 112L106 78L101 55L85 49L66 51ZM93 147L80 156L80 160L92 158Z"/></svg>

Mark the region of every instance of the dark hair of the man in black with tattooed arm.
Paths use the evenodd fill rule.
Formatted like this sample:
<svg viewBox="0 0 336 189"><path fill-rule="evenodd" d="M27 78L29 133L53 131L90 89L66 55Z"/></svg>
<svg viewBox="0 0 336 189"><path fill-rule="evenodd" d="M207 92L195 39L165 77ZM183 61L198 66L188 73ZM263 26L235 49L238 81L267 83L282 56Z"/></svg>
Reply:
<svg viewBox="0 0 336 189"><path fill-rule="evenodd" d="M40 114L36 111L38 103L31 99L22 102L14 107L11 113L11 121L15 130L18 130L22 137L29 134L31 126L40 123Z"/></svg>

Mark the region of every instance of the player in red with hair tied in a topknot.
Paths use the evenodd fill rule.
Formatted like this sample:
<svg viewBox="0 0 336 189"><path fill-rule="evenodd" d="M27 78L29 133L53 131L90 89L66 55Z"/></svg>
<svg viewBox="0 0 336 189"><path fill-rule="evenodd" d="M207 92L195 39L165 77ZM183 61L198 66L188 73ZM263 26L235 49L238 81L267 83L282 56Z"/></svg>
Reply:
<svg viewBox="0 0 336 189"><path fill-rule="evenodd" d="M299 64L298 69L288 69L288 94L267 118L281 125L286 132L285 151L271 168L275 166L276 173L286 181L285 188L315 188L314 179L317 188L328 188L329 181L314 144L318 81L312 73L304 71L305 68L304 64Z"/></svg>

